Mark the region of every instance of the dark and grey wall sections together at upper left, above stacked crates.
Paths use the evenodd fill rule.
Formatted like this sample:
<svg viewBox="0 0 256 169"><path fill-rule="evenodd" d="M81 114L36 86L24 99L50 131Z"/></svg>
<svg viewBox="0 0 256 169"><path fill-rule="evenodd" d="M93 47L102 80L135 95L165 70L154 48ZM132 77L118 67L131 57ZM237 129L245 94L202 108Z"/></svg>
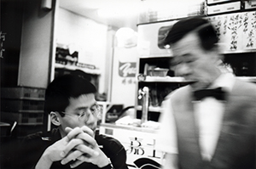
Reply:
<svg viewBox="0 0 256 169"><path fill-rule="evenodd" d="M2 87L46 87L52 19L53 11L42 9L40 0L1 2Z"/></svg>

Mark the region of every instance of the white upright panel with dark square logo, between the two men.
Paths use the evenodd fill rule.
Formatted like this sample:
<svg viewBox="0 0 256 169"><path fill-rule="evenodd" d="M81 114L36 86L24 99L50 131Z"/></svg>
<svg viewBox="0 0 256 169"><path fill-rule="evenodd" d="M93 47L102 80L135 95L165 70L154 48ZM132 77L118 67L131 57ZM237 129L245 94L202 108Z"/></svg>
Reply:
<svg viewBox="0 0 256 169"><path fill-rule="evenodd" d="M124 104L124 107L135 105L137 47L116 47L113 50L113 79L111 102ZM124 65L125 68L122 68Z"/></svg>

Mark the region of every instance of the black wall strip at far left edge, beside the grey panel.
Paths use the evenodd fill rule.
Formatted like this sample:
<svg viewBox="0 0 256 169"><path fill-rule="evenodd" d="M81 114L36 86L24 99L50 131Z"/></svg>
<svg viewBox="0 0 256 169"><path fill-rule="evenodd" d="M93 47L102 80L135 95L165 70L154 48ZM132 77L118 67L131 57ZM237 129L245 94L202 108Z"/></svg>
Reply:
<svg viewBox="0 0 256 169"><path fill-rule="evenodd" d="M5 34L1 58L1 87L17 86L22 11L23 5L20 2L1 1L1 32Z"/></svg>

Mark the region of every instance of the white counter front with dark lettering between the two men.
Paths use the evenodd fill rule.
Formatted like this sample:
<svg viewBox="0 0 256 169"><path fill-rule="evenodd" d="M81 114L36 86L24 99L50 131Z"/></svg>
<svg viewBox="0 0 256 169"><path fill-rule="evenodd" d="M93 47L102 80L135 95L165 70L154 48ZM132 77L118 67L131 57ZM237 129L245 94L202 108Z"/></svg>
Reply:
<svg viewBox="0 0 256 169"><path fill-rule="evenodd" d="M154 128L113 123L102 123L100 126L101 134L116 138L123 144L127 155L126 163L132 169L140 168L137 165L141 164L142 161L145 164L153 162L158 166L155 168L160 168L163 153L155 149L158 138L157 132L158 130Z"/></svg>

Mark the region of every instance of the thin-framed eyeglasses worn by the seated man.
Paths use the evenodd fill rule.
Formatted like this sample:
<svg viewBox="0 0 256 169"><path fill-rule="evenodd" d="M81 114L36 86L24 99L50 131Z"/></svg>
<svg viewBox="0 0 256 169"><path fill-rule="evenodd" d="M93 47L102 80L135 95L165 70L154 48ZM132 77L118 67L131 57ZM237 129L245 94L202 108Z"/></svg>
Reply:
<svg viewBox="0 0 256 169"><path fill-rule="evenodd" d="M76 114L67 114L66 112L61 112L64 115L69 115L73 117L78 117L79 121L88 121L91 115L94 115L97 119L101 119L102 117L102 105L94 104L90 108L84 108L79 110Z"/></svg>

